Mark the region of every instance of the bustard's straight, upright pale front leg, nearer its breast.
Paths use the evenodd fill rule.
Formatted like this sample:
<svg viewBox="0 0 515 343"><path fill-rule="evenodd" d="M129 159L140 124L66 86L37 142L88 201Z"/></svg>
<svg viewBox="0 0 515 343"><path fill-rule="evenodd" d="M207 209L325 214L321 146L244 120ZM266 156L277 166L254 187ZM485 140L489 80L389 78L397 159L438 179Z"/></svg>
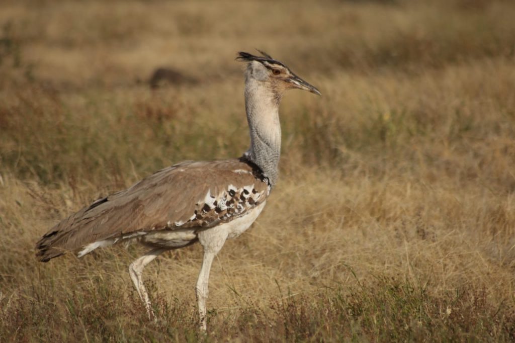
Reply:
<svg viewBox="0 0 515 343"><path fill-rule="evenodd" d="M208 298L209 293L209 272L216 254L220 251L222 246L224 246L226 239L227 232L225 229L212 228L199 233L199 241L204 248L204 258L202 260L202 267L200 268L195 290L198 304L199 327L201 331L207 329L205 300Z"/></svg>

